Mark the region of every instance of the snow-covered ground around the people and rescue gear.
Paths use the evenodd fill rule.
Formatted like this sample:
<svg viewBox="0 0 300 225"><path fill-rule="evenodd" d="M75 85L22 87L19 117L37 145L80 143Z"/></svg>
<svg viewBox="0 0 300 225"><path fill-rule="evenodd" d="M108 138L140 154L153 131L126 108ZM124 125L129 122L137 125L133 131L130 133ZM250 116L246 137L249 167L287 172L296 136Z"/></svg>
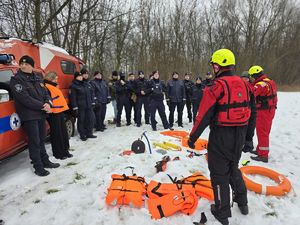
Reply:
<svg viewBox="0 0 300 225"><path fill-rule="evenodd" d="M109 105L108 118L112 117ZM292 182L293 190L285 197L266 197L248 192L250 213L242 216L236 205L232 208L230 224L299 224L300 199L300 93L279 93L279 106L273 123L271 135L271 153L268 164L251 161L250 165L261 165L274 169ZM186 111L185 111L186 113ZM191 124L184 116L184 129L189 131ZM158 119L158 118L157 118ZM160 122L160 120L158 119ZM158 127L162 129L162 127ZM176 128L176 127L175 127ZM104 132L95 133L98 138L82 142L79 138L71 139L74 157L60 161L61 167L50 170L45 178L34 175L24 151L0 163L0 219L5 225L135 225L135 224L193 224L200 220L205 212L207 224L219 224L209 211L210 202L199 200L196 212L191 216L176 214L158 221L151 220L147 206L142 209L130 207L108 207L104 199L112 173L131 174L127 166L133 166L135 173L151 179L169 182L167 173L172 176L187 176L200 170L207 176L209 172L203 157L188 158L186 151L171 152L170 156L180 156L179 161L170 162L166 172L156 173L154 165L162 158L155 152L150 155L140 154L119 156L122 150L130 149L131 143L143 131L147 131L151 141L170 140L151 131L150 126L122 126L115 128L108 125ZM208 129L204 138L208 136ZM256 142L256 138L254 139ZM49 155L51 147L47 144ZM54 160L51 156L52 161ZM244 154L242 159L250 159ZM256 181L273 184L267 178L255 177Z"/></svg>

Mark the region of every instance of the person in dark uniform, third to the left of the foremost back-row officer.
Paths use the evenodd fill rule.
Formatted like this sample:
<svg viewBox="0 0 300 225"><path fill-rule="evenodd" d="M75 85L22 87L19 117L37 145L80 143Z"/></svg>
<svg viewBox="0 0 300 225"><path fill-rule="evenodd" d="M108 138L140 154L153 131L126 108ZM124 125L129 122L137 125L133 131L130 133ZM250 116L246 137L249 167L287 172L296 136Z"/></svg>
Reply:
<svg viewBox="0 0 300 225"><path fill-rule="evenodd" d="M126 114L126 126L131 124L130 118L130 86L125 80L125 73L120 72L120 80L116 82L116 99L117 99L117 127L121 127L121 116L123 107Z"/></svg>

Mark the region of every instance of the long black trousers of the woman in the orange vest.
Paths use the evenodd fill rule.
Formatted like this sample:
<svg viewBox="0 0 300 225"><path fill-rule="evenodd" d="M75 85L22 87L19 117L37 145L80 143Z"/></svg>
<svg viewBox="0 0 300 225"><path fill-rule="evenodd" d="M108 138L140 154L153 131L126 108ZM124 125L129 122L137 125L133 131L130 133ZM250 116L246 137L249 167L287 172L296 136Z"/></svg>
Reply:
<svg viewBox="0 0 300 225"><path fill-rule="evenodd" d="M53 156L57 159L66 157L69 153L70 144L64 113L51 113L47 121L50 125Z"/></svg>

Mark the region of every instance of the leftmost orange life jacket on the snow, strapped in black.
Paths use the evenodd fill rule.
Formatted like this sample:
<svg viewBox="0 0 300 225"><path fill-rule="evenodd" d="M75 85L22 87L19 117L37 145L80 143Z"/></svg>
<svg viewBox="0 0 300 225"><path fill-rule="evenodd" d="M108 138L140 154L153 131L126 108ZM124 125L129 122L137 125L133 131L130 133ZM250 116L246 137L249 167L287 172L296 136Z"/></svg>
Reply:
<svg viewBox="0 0 300 225"><path fill-rule="evenodd" d="M143 195L146 193L146 183L143 177L113 174L112 183L107 189L105 199L108 205L130 205L142 207Z"/></svg>

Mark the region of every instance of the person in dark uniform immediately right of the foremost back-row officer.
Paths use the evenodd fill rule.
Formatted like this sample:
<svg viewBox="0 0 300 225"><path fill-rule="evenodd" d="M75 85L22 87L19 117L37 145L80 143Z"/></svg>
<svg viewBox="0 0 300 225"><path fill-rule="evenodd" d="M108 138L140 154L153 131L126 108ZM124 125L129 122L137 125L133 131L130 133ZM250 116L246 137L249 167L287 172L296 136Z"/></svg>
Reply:
<svg viewBox="0 0 300 225"><path fill-rule="evenodd" d="M169 106L169 124L173 127L174 124L174 111L177 108L177 122L179 127L183 127L182 113L183 107L186 102L185 86L182 80L179 80L177 72L172 73L172 79L167 84L167 104Z"/></svg>

